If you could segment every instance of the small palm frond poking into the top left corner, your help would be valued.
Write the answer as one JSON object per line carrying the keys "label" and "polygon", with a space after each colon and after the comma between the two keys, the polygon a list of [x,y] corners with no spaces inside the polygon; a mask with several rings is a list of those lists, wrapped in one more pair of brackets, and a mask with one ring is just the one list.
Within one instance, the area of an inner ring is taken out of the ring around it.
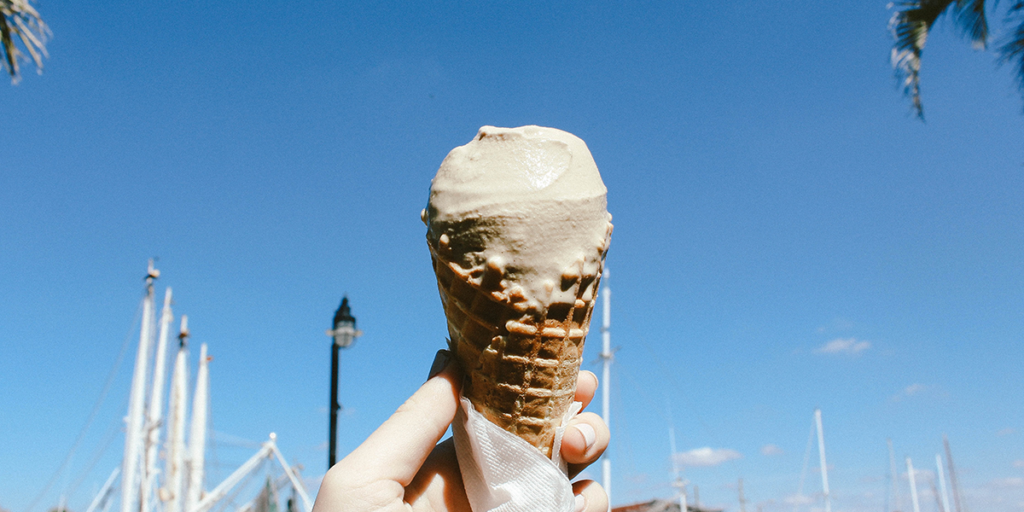
{"label": "small palm frond poking into the top left corner", "polygon": [[[18,61],[32,58],[39,73],[43,70],[46,40],[49,29],[39,16],[30,0],[0,0],[0,47],[3,48],[3,67],[10,74],[12,83],[20,79]],[[16,38],[16,39],[15,39]],[[28,56],[17,45],[22,42]]]}

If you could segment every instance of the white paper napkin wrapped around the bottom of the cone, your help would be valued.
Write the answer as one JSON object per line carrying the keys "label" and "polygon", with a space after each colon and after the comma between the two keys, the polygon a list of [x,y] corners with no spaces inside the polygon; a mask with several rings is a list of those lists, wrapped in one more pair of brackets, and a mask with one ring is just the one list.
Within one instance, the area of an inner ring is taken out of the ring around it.
{"label": "white paper napkin wrapped around the bottom of the cone", "polygon": [[574,512],[575,499],[559,453],[573,402],[555,431],[553,460],[478,413],[462,397],[452,430],[466,495],[473,512]]}

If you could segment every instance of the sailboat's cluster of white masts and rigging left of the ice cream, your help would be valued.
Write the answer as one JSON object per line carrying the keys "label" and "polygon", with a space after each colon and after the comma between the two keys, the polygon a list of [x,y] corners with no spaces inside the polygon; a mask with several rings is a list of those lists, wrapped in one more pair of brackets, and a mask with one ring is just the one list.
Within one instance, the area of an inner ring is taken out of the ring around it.
{"label": "sailboat's cluster of white masts and rigging left of the ice cream", "polygon": [[[289,512],[311,512],[312,501],[309,494],[299,478],[297,469],[290,466],[282,455],[276,434],[272,432],[260,449],[227,478],[211,490],[204,488],[211,357],[207,354],[207,345],[202,344],[189,412],[188,317],[182,315],[165,421],[165,370],[174,314],[171,308],[171,289],[167,288],[160,316],[159,336],[155,337],[154,282],[159,276],[160,271],[154,268],[153,260],[150,260],[145,275],[145,296],[142,299],[138,350],[132,374],[128,414],[125,417],[125,447],[121,466],[114,468],[86,512],[108,512],[115,501],[119,483],[120,512],[208,512],[267,460],[276,462],[281,467],[282,477],[279,478],[278,487],[290,485],[294,495],[299,498],[290,501],[290,505],[297,505],[301,509],[293,511],[290,506]],[[151,353],[154,349],[155,353]],[[189,413],[190,423],[186,421]],[[158,459],[164,430],[167,433],[164,443],[166,458],[161,469]],[[271,495],[276,499],[276,487],[272,494],[267,494]],[[276,509],[275,506],[271,508]]]}

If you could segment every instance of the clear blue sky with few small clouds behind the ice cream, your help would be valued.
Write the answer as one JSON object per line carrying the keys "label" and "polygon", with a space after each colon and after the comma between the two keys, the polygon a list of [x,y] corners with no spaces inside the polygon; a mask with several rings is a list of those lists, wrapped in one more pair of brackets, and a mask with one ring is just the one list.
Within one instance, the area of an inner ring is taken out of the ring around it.
{"label": "clear blue sky with few small clouds behind the ice cream", "polygon": [[614,504],[672,496],[674,423],[724,455],[685,468],[701,503],[742,477],[793,510],[820,407],[835,510],[885,511],[886,439],[934,472],[943,434],[972,510],[1024,509],[1024,101],[948,24],[921,123],[883,1],[37,5],[50,57],[0,100],[0,507],[81,512],[117,466],[154,256],[214,356],[208,485],[271,431],[315,480],[342,294],[345,453],[444,344],[437,166],[539,124],[587,141],[614,216]]}

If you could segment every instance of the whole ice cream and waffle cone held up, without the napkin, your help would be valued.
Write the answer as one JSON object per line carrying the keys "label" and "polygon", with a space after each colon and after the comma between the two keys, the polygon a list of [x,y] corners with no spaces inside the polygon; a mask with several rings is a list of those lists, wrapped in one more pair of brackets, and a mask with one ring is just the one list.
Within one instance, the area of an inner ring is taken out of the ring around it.
{"label": "whole ice cream and waffle cone held up, without the napkin", "polygon": [[485,126],[441,163],[423,211],[463,395],[548,457],[611,236],[606,194],[579,137]]}

